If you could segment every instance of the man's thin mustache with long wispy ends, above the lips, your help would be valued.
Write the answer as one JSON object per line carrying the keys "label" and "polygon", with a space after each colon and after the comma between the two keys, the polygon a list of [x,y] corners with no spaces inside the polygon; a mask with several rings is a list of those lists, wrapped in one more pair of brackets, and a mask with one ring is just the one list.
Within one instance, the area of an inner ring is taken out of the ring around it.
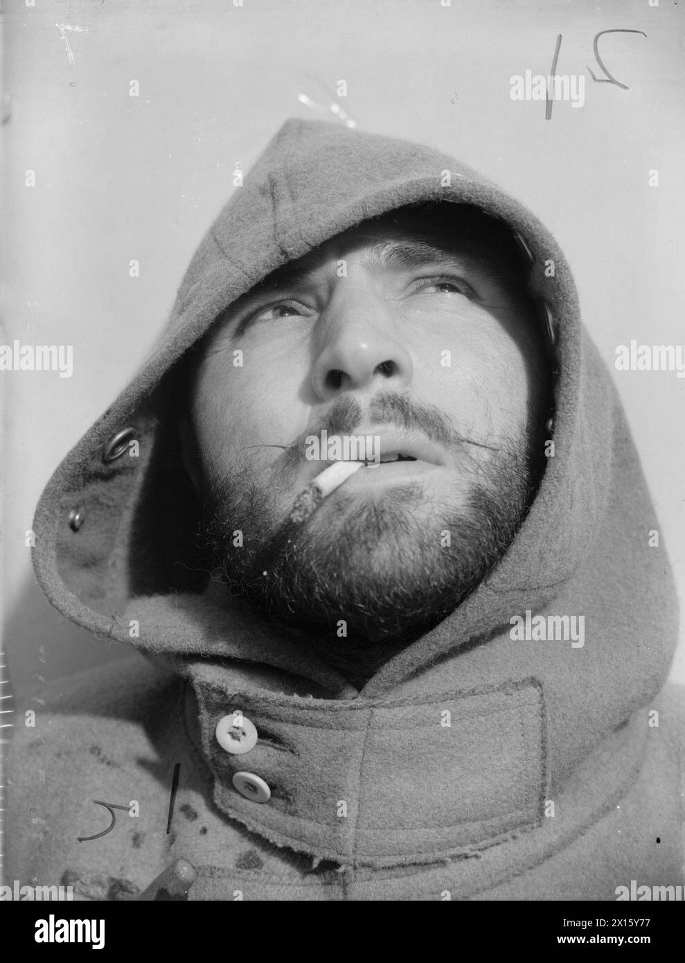
{"label": "man's thin mustache with long wispy ends, above the lips", "polygon": [[[451,419],[434,404],[415,402],[407,395],[394,391],[374,395],[367,406],[368,421],[379,428],[399,428],[421,431],[429,441],[444,448],[473,445],[491,452],[500,449],[482,441],[469,438],[454,429]],[[282,448],[283,455],[276,459],[274,468],[288,476],[302,458],[306,439],[320,434],[352,434],[364,421],[364,408],[356,398],[341,398],[323,414],[317,426],[301,431],[288,445],[249,445],[248,448]]]}

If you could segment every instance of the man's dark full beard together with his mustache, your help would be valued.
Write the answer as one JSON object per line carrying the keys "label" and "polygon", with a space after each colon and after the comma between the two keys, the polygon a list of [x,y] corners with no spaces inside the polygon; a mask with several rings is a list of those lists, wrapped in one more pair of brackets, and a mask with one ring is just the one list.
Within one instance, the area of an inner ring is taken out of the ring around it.
{"label": "man's dark full beard together with his mustache", "polygon": [[[358,686],[487,577],[520,527],[542,469],[533,456],[542,445],[528,426],[509,443],[480,445],[493,454],[476,460],[465,457],[466,439],[435,408],[387,394],[370,413],[385,417],[386,427],[420,429],[459,450],[466,497],[429,499],[421,482],[371,496],[342,485],[297,524],[279,517],[273,490],[259,486],[244,462],[229,476],[205,477],[200,492],[213,580],[259,617],[299,630]],[[347,400],[326,423],[350,429],[361,415]],[[301,453],[301,445],[288,446],[276,477],[285,481]]]}

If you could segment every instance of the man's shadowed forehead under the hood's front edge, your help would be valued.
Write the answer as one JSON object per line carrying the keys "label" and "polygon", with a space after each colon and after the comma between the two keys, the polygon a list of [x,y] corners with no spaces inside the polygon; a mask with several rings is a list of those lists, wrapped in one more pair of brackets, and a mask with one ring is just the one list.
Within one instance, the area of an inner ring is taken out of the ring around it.
{"label": "man's shadowed forehead under the hood's front edge", "polygon": [[453,267],[457,260],[509,283],[522,284],[525,278],[519,248],[506,225],[470,205],[441,203],[363,221],[268,274],[258,288],[311,280],[329,262],[354,253],[370,270]]}

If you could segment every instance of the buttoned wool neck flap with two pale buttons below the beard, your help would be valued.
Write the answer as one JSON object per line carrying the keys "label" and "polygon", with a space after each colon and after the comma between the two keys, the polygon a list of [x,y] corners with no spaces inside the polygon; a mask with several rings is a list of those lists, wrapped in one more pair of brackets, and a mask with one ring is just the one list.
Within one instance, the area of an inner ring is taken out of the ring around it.
{"label": "buttoned wool neck flap with two pale buttons below the beard", "polygon": [[[186,673],[190,739],[217,807],[276,846],[343,867],[394,867],[468,855],[542,820],[545,713],[534,679],[329,700],[259,689],[259,672],[246,686],[230,665],[193,661]],[[236,717],[257,732],[241,754],[216,737]],[[244,792],[245,774],[268,787],[266,802]]]}

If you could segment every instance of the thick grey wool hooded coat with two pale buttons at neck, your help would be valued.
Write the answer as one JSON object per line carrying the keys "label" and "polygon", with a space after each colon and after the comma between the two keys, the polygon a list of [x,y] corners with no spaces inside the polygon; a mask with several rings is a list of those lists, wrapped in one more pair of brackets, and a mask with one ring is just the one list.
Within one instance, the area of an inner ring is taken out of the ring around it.
{"label": "thick grey wool hooded coat with two pale buttons at neck", "polygon": [[[267,273],[426,201],[477,205],[519,241],[552,345],[554,450],[495,569],[356,690],[193,565],[178,372]],[[9,878],[135,898],[182,858],[191,900],[613,900],[633,880],[685,882],[683,698],[665,687],[676,602],[640,459],[563,253],[463,164],[289,120],[193,256],[140,373],[48,482],[34,529],[52,604],[138,654],[55,684],[36,726],[16,726]],[[583,616],[583,644],[512,638],[526,612]],[[240,755],[216,738],[236,712],[257,733]],[[237,772],[268,800],[241,794]]]}

